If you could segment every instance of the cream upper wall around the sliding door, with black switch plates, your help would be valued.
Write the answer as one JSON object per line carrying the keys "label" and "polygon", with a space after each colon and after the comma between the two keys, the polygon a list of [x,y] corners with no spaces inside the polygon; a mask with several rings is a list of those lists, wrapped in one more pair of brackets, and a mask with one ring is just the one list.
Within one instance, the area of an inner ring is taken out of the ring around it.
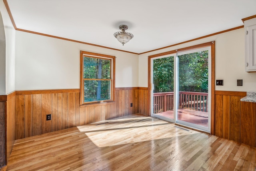
{"label": "cream upper wall around the sliding door, with black switch plates", "polygon": [[[215,89],[256,91],[256,73],[247,73],[244,69],[244,28],[139,55],[139,87],[148,87],[148,56],[214,40],[215,79],[224,80],[223,86],[215,86]],[[236,80],[241,79],[243,86],[236,86]]]}

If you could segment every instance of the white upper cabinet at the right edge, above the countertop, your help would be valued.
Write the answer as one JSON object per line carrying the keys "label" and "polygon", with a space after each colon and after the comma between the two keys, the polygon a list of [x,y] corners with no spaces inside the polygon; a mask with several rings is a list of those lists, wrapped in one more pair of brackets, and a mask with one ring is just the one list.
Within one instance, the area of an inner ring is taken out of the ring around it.
{"label": "white upper cabinet at the right edge, above the countertop", "polygon": [[245,71],[256,72],[256,18],[244,21]]}

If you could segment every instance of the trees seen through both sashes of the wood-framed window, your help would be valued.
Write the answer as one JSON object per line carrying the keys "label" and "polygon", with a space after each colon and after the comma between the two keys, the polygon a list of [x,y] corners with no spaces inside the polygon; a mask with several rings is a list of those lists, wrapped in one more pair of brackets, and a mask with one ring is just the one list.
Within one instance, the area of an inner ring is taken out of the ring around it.
{"label": "trees seen through both sashes of the wood-framed window", "polygon": [[111,61],[84,57],[84,102],[110,99]]}

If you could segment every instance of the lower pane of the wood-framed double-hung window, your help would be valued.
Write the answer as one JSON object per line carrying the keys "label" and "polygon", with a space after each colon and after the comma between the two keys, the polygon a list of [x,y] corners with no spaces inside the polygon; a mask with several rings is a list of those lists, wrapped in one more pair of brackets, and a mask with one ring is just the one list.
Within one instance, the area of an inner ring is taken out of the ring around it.
{"label": "lower pane of the wood-framed double-hung window", "polygon": [[110,80],[84,80],[84,102],[110,100]]}

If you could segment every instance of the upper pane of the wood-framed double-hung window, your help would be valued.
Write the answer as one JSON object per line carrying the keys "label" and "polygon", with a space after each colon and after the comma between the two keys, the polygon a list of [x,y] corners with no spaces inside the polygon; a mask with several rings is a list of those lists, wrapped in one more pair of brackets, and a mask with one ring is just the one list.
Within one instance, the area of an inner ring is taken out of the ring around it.
{"label": "upper pane of the wood-framed double-hung window", "polygon": [[110,79],[110,60],[84,57],[84,78]]}

